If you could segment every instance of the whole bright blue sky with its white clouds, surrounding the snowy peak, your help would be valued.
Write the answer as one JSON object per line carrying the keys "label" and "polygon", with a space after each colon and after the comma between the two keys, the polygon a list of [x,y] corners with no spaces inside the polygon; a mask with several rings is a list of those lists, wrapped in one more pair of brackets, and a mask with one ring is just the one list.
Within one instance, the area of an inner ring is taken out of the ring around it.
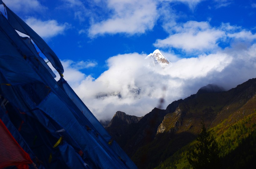
{"label": "whole bright blue sky with its white clouds, surrounding the snowy peak", "polygon": [[[53,49],[99,120],[118,110],[145,115],[161,97],[165,108],[209,83],[228,90],[256,77],[255,0],[3,2]],[[168,68],[144,60],[155,49]]]}

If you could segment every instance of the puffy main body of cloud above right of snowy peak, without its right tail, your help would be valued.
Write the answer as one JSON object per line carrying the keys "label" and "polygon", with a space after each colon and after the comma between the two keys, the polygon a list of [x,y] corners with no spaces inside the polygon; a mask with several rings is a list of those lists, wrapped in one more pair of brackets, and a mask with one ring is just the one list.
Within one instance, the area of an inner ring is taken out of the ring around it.
{"label": "puffy main body of cloud above right of snowy peak, without its right tail", "polygon": [[154,46],[159,48],[174,47],[186,52],[193,50],[207,51],[218,46],[217,41],[225,35],[209,25],[208,22],[188,21],[172,28],[174,34],[163,40],[156,40]]}

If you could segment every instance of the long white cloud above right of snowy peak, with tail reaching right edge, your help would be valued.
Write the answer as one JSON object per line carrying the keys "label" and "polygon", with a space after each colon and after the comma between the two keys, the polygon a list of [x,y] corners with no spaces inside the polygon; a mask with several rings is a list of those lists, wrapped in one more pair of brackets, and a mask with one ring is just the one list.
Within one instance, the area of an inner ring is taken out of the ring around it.
{"label": "long white cloud above right of snowy peak, with tail reaching right edge", "polygon": [[186,53],[213,52],[219,48],[220,42],[229,43],[230,40],[256,40],[256,34],[229,23],[212,27],[209,22],[188,21],[169,27],[166,31],[170,35],[165,39],[157,39],[154,46],[181,49]]}

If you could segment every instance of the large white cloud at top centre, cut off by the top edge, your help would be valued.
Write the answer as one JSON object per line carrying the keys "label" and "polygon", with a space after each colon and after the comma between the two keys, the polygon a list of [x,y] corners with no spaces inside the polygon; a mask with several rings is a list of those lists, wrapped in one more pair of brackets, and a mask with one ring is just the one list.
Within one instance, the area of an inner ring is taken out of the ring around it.
{"label": "large white cloud at top centre, cut off by the top edge", "polygon": [[156,2],[153,0],[107,1],[111,9],[110,18],[92,23],[89,29],[91,37],[103,34],[136,34],[151,30],[158,18]]}

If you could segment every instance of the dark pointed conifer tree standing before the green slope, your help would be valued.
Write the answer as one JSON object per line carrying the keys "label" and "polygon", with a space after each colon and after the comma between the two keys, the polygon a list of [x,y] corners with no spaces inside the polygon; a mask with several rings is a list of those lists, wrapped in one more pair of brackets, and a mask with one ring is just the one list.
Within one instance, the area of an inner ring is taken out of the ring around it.
{"label": "dark pointed conifer tree standing before the green slope", "polygon": [[206,131],[204,121],[201,122],[202,129],[198,134],[194,151],[188,157],[190,165],[194,169],[216,169],[219,168],[219,148],[214,137]]}

